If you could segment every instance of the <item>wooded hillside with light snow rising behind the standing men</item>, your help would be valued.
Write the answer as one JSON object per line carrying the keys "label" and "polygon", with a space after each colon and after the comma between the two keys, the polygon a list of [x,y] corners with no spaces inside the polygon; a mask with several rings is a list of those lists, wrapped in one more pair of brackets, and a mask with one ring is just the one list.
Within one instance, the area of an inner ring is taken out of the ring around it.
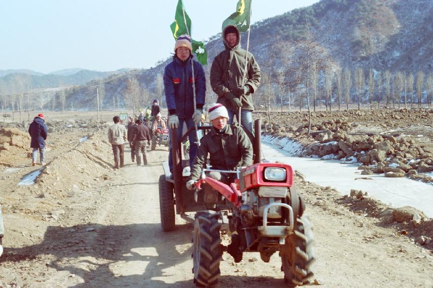
{"label": "wooded hillside with light snow rising behind the standing men", "polygon": [[[365,75],[374,71],[413,73],[422,70],[431,73],[433,63],[433,2],[430,0],[322,0],[310,7],[296,9],[251,26],[250,51],[255,55],[263,72],[290,70],[283,57],[284,47],[298,45],[306,39],[308,26],[317,35],[317,45],[328,53],[334,67],[354,70],[362,67]],[[223,49],[221,35],[211,37],[206,44],[209,65]],[[242,36],[246,46],[246,35]],[[274,53],[271,55],[271,51]],[[167,55],[169,56],[169,55]],[[274,61],[269,61],[270,57]],[[135,76],[143,88],[155,97],[155,80],[162,74],[167,61],[146,71],[105,80],[105,105],[115,100],[122,105],[121,94],[126,93],[126,79]],[[269,63],[273,63],[270,67]],[[353,78],[352,78],[353,79]],[[95,83],[74,89],[68,101],[80,103],[82,109],[95,107]],[[377,89],[376,89],[377,90]],[[207,99],[211,98],[208,89]],[[377,92],[380,93],[380,92]],[[257,102],[264,101],[259,90]],[[92,97],[90,97],[92,95]],[[214,97],[214,96],[213,96]],[[142,102],[146,102],[143,98]]]}

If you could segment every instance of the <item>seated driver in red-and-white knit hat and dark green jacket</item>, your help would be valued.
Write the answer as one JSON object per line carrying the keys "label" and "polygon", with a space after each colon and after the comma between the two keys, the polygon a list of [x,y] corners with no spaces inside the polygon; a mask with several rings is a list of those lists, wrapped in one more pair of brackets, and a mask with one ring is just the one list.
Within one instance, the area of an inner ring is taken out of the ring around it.
{"label": "seated driver in red-and-white knit hat and dark green jacket", "polygon": [[[210,107],[209,120],[213,127],[201,139],[187,182],[188,189],[192,189],[195,181],[200,178],[208,154],[210,154],[210,165],[215,170],[234,171],[236,168],[252,165],[252,144],[242,127],[227,125],[229,114],[226,107],[222,104],[214,104]],[[226,184],[234,181],[230,178],[230,174],[220,172],[210,172],[207,177]]]}

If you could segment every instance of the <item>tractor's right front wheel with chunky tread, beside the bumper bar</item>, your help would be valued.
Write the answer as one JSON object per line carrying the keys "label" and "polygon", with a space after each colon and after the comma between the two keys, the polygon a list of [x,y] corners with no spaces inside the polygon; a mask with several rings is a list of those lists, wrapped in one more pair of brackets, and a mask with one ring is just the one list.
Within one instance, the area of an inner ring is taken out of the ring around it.
{"label": "tractor's right front wheel with chunky tread, beside the bumper bar", "polygon": [[316,260],[312,225],[306,215],[298,217],[295,231],[288,236],[280,251],[281,270],[289,287],[309,283],[313,276],[312,264]]}

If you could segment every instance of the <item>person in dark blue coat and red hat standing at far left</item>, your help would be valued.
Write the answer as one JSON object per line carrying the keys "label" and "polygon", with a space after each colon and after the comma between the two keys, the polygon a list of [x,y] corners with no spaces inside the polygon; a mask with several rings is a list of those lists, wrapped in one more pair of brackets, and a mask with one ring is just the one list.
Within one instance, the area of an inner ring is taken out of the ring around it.
{"label": "person in dark blue coat and red hat standing at far left", "polygon": [[48,127],[45,124],[44,114],[38,114],[34,117],[33,122],[28,127],[28,133],[31,137],[30,148],[33,148],[31,165],[36,165],[38,150],[41,158],[41,165],[45,165],[45,140],[48,136]]}

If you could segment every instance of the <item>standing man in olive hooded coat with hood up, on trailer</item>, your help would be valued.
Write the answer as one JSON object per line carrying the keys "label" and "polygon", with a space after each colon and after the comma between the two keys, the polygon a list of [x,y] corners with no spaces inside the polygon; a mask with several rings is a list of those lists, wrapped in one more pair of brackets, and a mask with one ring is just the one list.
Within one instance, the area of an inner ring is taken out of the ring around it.
{"label": "standing man in olive hooded coat with hood up, on trailer", "polygon": [[260,68],[254,56],[240,48],[240,34],[236,26],[224,28],[223,43],[226,49],[215,56],[210,68],[210,86],[218,94],[218,103],[227,107],[230,123],[233,123],[234,116],[238,118],[240,107],[241,124],[252,134],[251,112],[254,106],[251,94],[259,87]]}

